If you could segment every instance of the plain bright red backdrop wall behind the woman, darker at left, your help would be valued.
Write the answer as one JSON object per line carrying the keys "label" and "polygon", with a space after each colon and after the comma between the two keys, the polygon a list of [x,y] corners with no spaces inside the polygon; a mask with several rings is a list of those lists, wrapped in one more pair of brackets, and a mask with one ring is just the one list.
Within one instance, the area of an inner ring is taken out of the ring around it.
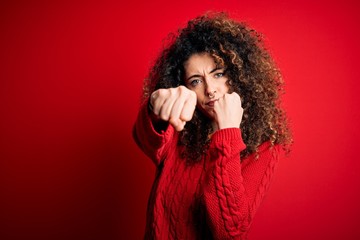
{"label": "plain bright red backdrop wall behind the woman, darker at left", "polygon": [[264,33],[286,80],[295,144],[250,239],[360,238],[356,1],[100,2],[0,5],[0,239],[143,236],[142,79],[167,33],[206,10]]}

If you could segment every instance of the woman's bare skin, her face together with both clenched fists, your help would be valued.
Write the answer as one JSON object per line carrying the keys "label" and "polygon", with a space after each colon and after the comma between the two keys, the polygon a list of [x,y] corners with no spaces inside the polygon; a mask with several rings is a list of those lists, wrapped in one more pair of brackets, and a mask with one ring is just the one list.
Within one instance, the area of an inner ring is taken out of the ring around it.
{"label": "woman's bare skin, her face together with both clenched fists", "polygon": [[224,68],[216,66],[208,53],[193,54],[184,68],[185,86],[158,89],[151,94],[154,115],[181,131],[197,107],[212,121],[214,131],[239,128],[243,115],[241,100],[237,93],[228,93]]}

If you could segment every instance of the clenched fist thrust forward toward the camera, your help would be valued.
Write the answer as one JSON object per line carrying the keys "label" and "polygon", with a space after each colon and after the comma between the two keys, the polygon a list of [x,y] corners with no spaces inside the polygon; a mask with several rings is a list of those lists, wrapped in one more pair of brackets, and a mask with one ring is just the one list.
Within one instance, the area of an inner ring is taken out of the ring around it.
{"label": "clenched fist thrust forward toward the camera", "polygon": [[151,94],[150,105],[159,119],[169,122],[176,131],[182,131],[193,116],[196,94],[185,86],[158,89]]}

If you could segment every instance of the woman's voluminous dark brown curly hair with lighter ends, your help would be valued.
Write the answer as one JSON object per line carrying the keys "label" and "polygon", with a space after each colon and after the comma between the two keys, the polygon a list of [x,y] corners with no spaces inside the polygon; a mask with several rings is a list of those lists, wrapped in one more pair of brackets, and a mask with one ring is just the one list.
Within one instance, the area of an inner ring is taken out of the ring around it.
{"label": "woman's voluminous dark brown curly hair with lighter ends", "polygon": [[[170,35],[144,81],[143,100],[159,88],[185,85],[184,63],[196,53],[209,53],[217,65],[224,67],[230,91],[241,97],[244,113],[239,127],[246,144],[241,158],[256,153],[265,141],[289,150],[291,132],[279,98],[284,91],[281,73],[264,47],[262,35],[226,13],[204,14]],[[210,119],[196,109],[180,132],[183,156],[199,160],[212,131]]]}

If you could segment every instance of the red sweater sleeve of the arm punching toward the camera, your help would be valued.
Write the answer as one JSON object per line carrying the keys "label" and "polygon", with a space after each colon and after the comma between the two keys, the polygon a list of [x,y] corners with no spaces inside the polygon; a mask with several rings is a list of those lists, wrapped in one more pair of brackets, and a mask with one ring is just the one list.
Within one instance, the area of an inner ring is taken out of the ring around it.
{"label": "red sweater sleeve of the arm punching toward the camera", "polygon": [[158,166],[166,156],[174,131],[174,128],[167,123],[162,129],[155,129],[150,117],[148,101],[145,101],[140,107],[132,135],[140,149]]}

